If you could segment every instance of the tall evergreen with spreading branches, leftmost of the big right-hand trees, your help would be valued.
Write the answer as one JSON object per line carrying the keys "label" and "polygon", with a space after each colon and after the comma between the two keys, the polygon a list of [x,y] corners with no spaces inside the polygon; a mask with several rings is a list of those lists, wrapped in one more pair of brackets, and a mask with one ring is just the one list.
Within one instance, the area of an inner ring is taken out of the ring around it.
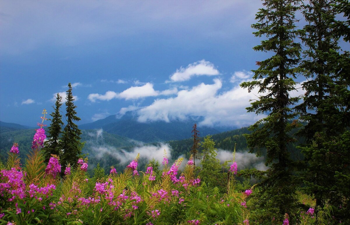
{"label": "tall evergreen with spreading branches, leftmost of the big right-hand trees", "polygon": [[[247,135],[248,147],[251,153],[261,155],[260,149],[267,149],[265,165],[266,172],[250,170],[243,175],[259,176],[263,193],[257,209],[261,211],[260,222],[263,224],[273,218],[283,220],[288,213],[293,224],[296,215],[295,184],[293,171],[295,162],[290,158],[288,145],[294,139],[288,134],[296,123],[289,123],[296,116],[292,107],[299,97],[291,97],[290,92],[296,88],[296,65],[300,60],[301,46],[295,42],[297,30],[295,12],[300,1],[265,0],[265,8],[259,9],[255,19],[258,23],[252,25],[257,29],[255,36],[265,36],[266,40],[255,46],[255,51],[271,52],[272,57],[258,61],[260,67],[253,70],[253,81],[243,82],[241,87],[251,91],[259,89],[259,100],[246,108],[248,112],[268,114],[250,127],[254,132]],[[254,172],[254,173],[252,173]]]}

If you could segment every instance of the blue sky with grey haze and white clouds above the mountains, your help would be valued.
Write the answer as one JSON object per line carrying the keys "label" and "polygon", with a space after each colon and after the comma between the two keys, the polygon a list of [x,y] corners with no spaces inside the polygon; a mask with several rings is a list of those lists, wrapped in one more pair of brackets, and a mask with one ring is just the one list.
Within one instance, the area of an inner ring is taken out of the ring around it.
{"label": "blue sky with grey haze and white clouds above the mountains", "polygon": [[[268,53],[251,24],[260,0],[0,1],[0,120],[35,126],[72,84],[77,124],[134,111],[140,122],[202,116],[241,127],[239,87]],[[294,93],[299,95],[300,93]],[[62,111],[65,111],[64,105]]]}

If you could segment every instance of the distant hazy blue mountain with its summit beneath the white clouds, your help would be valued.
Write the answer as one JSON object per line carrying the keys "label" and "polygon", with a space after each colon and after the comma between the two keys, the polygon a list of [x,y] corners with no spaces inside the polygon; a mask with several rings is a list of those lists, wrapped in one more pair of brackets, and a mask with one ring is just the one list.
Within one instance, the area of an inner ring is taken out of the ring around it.
{"label": "distant hazy blue mountain with its summit beneath the white clouds", "polygon": [[[188,119],[187,121],[172,121],[169,123],[164,121],[140,123],[137,120],[137,115],[127,112],[121,117],[112,115],[93,123],[79,125],[79,129],[102,128],[108,133],[150,143],[189,138],[192,135],[193,125],[200,120],[201,118],[198,117],[197,120]],[[202,136],[221,132],[215,128],[206,126],[198,126],[198,130],[200,130]]]}

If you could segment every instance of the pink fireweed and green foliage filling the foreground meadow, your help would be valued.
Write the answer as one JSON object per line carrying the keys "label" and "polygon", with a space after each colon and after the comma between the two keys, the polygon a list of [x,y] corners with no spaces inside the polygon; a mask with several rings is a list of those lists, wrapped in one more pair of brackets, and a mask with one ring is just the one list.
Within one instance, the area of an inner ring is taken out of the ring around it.
{"label": "pink fireweed and green foliage filling the foreground meadow", "polygon": [[[40,149],[45,138],[42,127],[46,111],[43,113],[32,143],[33,152],[38,154],[28,158],[28,165],[43,162]],[[15,159],[17,155],[18,145],[14,144],[10,156]],[[68,165],[63,178],[59,176],[61,165],[56,156],[35,171],[20,168],[13,161],[8,164],[12,167],[0,171],[0,223],[249,224],[249,208],[245,207],[249,205],[251,189],[241,192],[233,185],[225,194],[217,188],[208,190],[195,176],[193,159],[179,174],[182,160],[169,168],[165,156],[162,176],[156,178],[154,170],[158,168],[148,166],[145,173],[138,171],[137,155],[123,173],[111,167],[109,175],[97,181],[86,173],[87,158],[80,158],[75,168]],[[234,159],[225,171],[228,170],[237,173]],[[234,179],[230,176],[230,181]],[[306,215],[312,216],[313,210]]]}

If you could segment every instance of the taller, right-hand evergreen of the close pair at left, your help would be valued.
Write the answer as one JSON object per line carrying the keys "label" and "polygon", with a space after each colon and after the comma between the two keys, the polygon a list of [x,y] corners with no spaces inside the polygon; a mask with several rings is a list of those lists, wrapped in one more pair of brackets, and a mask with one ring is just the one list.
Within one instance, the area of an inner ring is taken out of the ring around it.
{"label": "taller, right-hand evergreen of the close pair at left", "polygon": [[74,97],[72,94],[72,86],[69,83],[68,84],[68,90],[67,90],[67,96],[66,96],[66,120],[67,124],[63,129],[62,133],[62,170],[65,170],[65,167],[70,164],[71,166],[75,166],[77,164],[77,161],[79,159],[79,155],[82,152],[83,143],[80,143],[80,135],[82,132],[78,128],[78,126],[73,121],[79,121],[80,118],[76,116],[77,112],[75,111],[75,108],[77,106],[74,105]]}

